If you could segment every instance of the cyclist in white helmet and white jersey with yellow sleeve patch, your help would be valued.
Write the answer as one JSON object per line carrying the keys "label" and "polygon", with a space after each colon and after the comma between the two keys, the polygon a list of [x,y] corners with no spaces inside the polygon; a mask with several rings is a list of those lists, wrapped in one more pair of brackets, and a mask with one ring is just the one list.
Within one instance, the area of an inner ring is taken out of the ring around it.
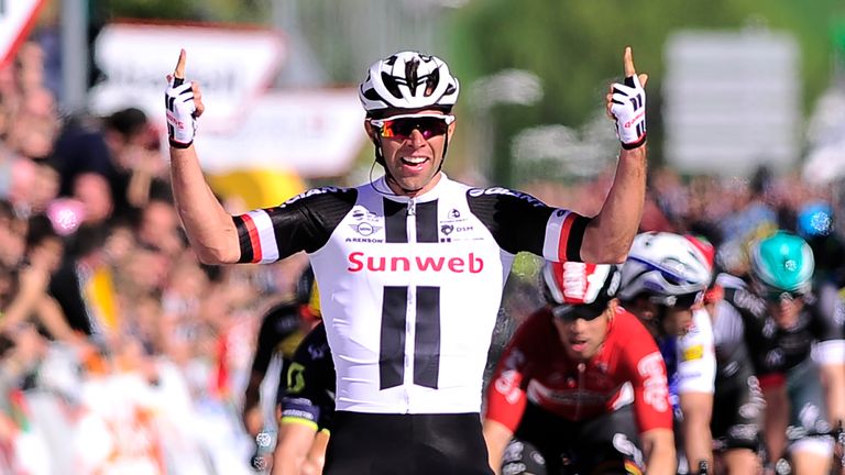
{"label": "cyclist in white helmet and white jersey with yellow sleeve patch", "polygon": [[699,473],[701,463],[713,466],[716,361],[713,327],[703,309],[712,272],[698,239],[668,232],[637,235],[622,266],[619,300],[649,329],[666,360],[680,427],[679,473]]}

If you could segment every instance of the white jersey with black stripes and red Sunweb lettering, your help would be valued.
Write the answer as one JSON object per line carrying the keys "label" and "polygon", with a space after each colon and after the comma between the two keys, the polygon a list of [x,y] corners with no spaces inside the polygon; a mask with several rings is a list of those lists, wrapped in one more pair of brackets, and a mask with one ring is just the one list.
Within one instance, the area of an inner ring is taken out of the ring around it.
{"label": "white jersey with black stripes and red Sunweb lettering", "polygon": [[241,262],[306,251],[337,369],[337,409],[479,412],[502,289],[517,252],[580,261],[588,218],[441,176],[416,198],[383,178],[234,217]]}

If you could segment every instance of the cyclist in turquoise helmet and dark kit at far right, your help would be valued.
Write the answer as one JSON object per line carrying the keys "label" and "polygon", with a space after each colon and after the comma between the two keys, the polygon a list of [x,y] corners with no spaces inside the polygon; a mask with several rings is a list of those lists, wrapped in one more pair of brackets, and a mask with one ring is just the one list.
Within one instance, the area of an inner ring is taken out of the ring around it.
{"label": "cyclist in turquoise helmet and dark kit at far right", "polygon": [[769,462],[789,449],[794,473],[826,474],[833,440],[813,434],[845,419],[843,302],[833,285],[813,288],[813,252],[794,234],[753,242],[749,257],[760,299],[748,299],[740,314],[766,398]]}

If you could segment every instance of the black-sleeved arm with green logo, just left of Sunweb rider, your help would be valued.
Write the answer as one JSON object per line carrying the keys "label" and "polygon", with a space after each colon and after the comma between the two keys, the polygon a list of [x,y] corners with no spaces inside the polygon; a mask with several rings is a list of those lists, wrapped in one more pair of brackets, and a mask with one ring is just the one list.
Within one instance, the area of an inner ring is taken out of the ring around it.
{"label": "black-sleeved arm with green logo, just left of Sunweb rider", "polygon": [[296,349],[283,380],[273,475],[319,474],[334,413],[334,365],[322,323]]}

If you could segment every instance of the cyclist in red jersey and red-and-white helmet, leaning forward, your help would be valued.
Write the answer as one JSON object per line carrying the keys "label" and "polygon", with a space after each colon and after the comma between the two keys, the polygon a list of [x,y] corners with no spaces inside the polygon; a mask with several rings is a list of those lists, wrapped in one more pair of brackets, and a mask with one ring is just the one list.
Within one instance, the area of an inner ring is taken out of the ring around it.
{"label": "cyclist in red jersey and red-and-white helmet, leaning forward", "polygon": [[615,298],[618,268],[555,263],[542,277],[548,305],[519,327],[489,386],[491,466],[558,475],[567,459],[566,473],[673,474],[666,366]]}

